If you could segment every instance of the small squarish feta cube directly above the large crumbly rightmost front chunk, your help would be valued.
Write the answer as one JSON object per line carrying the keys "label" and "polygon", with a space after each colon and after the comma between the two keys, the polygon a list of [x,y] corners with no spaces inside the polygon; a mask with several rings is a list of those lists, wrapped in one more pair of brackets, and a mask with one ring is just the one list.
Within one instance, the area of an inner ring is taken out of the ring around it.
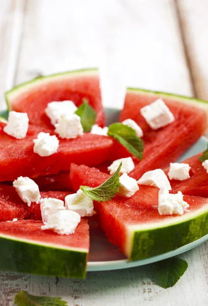
{"label": "small squarish feta cube directly above the large crumbly rightmost front chunk", "polygon": [[189,164],[183,163],[170,163],[170,169],[168,176],[170,180],[185,181],[190,179],[189,170],[191,167]]}

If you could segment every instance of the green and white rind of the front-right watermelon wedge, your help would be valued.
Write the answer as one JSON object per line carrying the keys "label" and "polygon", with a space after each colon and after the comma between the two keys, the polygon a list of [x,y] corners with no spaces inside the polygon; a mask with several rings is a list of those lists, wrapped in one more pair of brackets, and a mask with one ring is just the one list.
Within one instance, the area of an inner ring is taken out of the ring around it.
{"label": "green and white rind of the front-right watermelon wedge", "polygon": [[125,253],[129,260],[158,256],[208,234],[208,203],[195,212],[174,218],[176,220],[172,224],[167,220],[156,226],[155,223],[152,226],[146,225],[143,229],[141,225],[128,225]]}

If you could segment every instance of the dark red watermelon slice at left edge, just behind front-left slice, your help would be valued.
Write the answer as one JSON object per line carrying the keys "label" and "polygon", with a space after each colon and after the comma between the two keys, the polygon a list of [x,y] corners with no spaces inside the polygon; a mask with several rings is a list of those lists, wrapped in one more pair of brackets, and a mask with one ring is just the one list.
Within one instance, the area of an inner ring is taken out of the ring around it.
{"label": "dark red watermelon slice at left edge, just behind front-left slice", "polygon": [[[65,196],[70,192],[64,191],[48,191],[41,192],[41,197],[55,197],[60,200],[65,199]],[[12,186],[0,184],[0,221],[31,218],[42,220],[40,212],[40,204],[32,203],[28,207]]]}

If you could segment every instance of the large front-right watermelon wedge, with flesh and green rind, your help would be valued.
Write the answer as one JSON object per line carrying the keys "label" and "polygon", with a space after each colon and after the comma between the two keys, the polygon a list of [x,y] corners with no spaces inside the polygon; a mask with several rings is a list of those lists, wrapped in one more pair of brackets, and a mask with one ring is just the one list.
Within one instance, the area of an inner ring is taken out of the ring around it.
{"label": "large front-right watermelon wedge, with flesh and green rind", "polygon": [[[72,165],[70,171],[74,189],[80,185],[98,186],[107,175],[83,165]],[[108,239],[130,260],[157,256],[208,233],[208,198],[185,195],[184,200],[190,207],[184,215],[161,216],[158,192],[158,188],[140,186],[131,198],[116,196],[106,202],[94,202],[99,223]]]}

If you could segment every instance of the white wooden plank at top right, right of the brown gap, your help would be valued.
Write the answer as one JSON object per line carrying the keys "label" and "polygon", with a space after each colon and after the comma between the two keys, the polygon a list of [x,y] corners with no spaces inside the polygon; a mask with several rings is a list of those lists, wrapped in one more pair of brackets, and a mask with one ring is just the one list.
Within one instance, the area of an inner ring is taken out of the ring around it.
{"label": "white wooden plank at top right, right of the brown gap", "polygon": [[177,0],[196,96],[208,100],[208,28],[206,0]]}

